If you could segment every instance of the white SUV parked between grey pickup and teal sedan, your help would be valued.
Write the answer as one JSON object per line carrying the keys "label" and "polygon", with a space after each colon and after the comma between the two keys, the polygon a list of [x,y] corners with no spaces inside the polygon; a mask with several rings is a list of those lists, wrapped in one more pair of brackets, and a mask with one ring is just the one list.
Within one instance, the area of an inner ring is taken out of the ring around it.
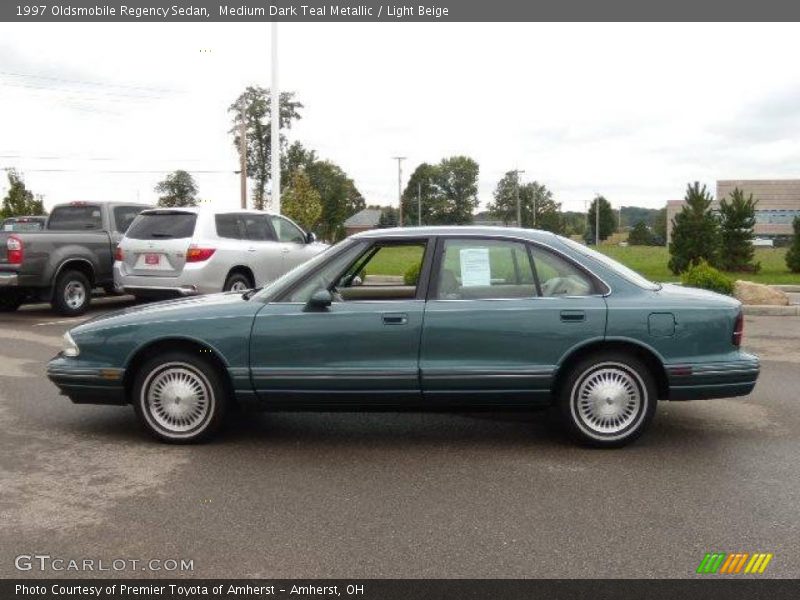
{"label": "white SUV parked between grey pickup and teal sedan", "polygon": [[280,215],[155,208],[136,217],[119,243],[114,284],[142,298],[244,291],[325,248]]}

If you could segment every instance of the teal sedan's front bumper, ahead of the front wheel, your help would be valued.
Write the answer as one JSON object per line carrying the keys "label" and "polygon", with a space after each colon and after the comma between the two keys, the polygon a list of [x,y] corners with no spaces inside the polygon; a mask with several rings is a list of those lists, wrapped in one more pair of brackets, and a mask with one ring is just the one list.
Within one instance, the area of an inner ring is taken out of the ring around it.
{"label": "teal sedan's front bumper, ahead of the front wheel", "polygon": [[58,355],[48,363],[47,377],[75,404],[127,403],[125,369],[81,366]]}

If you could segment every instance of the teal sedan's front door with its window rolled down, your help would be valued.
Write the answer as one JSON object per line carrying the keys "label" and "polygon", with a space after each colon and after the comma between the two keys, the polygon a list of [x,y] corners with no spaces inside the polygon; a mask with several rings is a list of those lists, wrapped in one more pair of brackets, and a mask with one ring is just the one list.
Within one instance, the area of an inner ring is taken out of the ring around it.
{"label": "teal sedan's front door with its window rolled down", "polygon": [[[279,406],[419,400],[418,355],[427,240],[355,242],[255,319],[251,377],[259,398]],[[310,310],[327,289],[330,307]]]}

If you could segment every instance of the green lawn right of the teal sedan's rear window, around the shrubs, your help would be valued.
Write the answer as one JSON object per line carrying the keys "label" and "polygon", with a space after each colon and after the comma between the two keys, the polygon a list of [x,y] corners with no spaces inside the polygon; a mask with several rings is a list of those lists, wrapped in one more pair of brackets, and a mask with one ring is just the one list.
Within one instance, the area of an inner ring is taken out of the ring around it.
{"label": "green lawn right of the teal sedan's rear window, around the shrubs", "polygon": [[[728,273],[731,279],[745,279],[757,283],[800,284],[800,273],[791,273],[786,267],[786,248],[756,248],[756,262],[761,263],[758,273]],[[680,278],[667,268],[669,252],[665,246],[604,246],[600,252],[638,271],[652,281],[678,281]]]}

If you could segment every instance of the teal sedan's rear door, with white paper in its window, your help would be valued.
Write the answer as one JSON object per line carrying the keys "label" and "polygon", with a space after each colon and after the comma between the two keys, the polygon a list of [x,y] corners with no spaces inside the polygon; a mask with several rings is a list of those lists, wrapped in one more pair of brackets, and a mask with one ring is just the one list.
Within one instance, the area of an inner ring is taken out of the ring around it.
{"label": "teal sedan's rear door, with white paper in its window", "polygon": [[549,402],[561,358],[604,335],[596,282],[523,241],[439,245],[420,350],[425,403]]}

